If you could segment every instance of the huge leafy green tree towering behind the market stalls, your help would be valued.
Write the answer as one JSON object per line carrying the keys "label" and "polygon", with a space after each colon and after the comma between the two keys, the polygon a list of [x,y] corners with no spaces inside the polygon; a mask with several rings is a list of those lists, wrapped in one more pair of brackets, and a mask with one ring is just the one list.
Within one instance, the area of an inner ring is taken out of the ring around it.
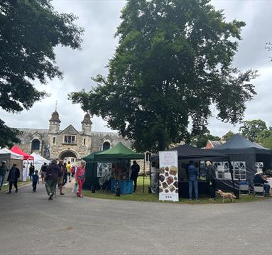
{"label": "huge leafy green tree towering behind the market stalls", "polygon": [[256,72],[232,67],[245,23],[227,22],[209,2],[127,1],[109,75],[98,75],[90,92],[70,94],[72,101],[134,139],[138,151],[185,139],[190,119],[197,134],[211,104],[222,121],[241,121],[256,94],[250,82]]}

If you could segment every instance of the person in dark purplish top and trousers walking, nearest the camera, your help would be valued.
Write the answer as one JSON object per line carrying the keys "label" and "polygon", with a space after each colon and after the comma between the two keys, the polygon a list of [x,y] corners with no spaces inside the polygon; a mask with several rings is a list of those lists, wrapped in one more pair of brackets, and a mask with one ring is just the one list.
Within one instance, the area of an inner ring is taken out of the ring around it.
{"label": "person in dark purplish top and trousers walking, nearest the camera", "polygon": [[60,168],[57,161],[54,159],[50,166],[46,168],[45,171],[45,189],[48,193],[48,199],[53,200],[53,195],[55,194],[55,189],[58,182],[58,173]]}

